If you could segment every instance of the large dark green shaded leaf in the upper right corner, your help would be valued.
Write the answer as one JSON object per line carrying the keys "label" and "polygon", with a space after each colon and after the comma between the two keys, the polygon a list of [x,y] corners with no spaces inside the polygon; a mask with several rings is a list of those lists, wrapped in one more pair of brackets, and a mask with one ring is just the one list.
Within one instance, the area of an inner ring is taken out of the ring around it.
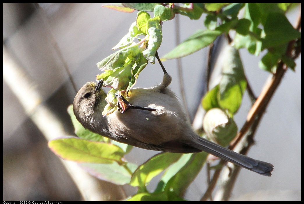
{"label": "large dark green shaded leaf in the upper right corner", "polygon": [[270,13],[266,19],[265,38],[262,49],[283,45],[293,39],[301,37],[301,33],[293,28],[282,13]]}

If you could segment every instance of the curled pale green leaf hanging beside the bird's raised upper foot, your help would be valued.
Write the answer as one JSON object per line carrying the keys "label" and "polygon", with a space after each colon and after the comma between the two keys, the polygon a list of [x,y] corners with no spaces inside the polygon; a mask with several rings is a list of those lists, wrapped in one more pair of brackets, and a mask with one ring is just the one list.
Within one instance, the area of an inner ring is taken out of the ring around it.
{"label": "curled pale green leaf hanging beside the bird's raised upper foot", "polygon": [[149,19],[147,22],[148,47],[143,50],[143,56],[152,64],[155,63],[155,53],[161,46],[163,35],[159,17]]}

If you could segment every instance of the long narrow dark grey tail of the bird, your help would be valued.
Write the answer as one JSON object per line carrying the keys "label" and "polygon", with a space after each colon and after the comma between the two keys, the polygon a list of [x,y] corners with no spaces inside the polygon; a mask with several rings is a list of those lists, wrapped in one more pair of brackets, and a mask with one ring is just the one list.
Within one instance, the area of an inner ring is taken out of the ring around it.
{"label": "long narrow dark grey tail of the bird", "polygon": [[199,144],[197,144],[196,148],[264,176],[271,176],[271,172],[274,168],[270,163],[241,155],[202,137],[199,137]]}

